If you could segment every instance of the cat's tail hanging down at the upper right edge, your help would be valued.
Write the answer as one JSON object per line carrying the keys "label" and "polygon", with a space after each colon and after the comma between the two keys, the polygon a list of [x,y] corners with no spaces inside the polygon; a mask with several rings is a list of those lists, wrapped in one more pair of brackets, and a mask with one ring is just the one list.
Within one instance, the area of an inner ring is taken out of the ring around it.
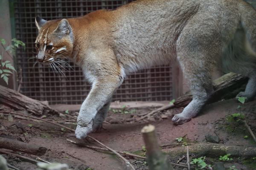
{"label": "cat's tail hanging down at the upper right edge", "polygon": [[253,51],[256,52],[256,10],[243,0],[240,1],[238,7],[246,37]]}

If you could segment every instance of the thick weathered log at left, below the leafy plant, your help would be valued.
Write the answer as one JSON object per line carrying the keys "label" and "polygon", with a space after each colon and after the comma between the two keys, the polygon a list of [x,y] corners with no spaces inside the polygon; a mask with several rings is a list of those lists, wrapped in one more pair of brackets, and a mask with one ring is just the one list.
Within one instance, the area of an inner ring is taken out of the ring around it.
{"label": "thick weathered log at left, below the leafy plant", "polygon": [[0,104],[7,105],[17,111],[29,111],[34,115],[58,114],[47,102],[31,99],[12,89],[0,85]]}

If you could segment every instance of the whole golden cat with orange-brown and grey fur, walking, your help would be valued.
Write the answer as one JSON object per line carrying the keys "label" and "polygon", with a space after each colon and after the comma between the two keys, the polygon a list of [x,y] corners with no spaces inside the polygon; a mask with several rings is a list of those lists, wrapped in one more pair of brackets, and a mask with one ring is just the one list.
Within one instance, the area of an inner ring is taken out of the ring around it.
{"label": "whole golden cat with orange-brown and grey fur, walking", "polygon": [[36,17],[35,23],[38,62],[67,57],[92,83],[77,119],[79,139],[102,127],[126,74],[175,58],[193,94],[175,124],[195,117],[212,96],[217,64],[250,78],[238,96],[256,96],[256,11],[242,0],[137,0],[79,18]]}

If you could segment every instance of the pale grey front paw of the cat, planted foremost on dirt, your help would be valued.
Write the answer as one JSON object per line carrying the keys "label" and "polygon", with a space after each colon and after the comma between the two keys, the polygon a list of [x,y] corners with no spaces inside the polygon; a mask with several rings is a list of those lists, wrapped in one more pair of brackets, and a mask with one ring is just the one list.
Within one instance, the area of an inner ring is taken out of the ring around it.
{"label": "pale grey front paw of the cat, planted foremost on dirt", "polygon": [[84,139],[91,132],[93,132],[93,119],[89,123],[78,119],[75,132],[76,138]]}

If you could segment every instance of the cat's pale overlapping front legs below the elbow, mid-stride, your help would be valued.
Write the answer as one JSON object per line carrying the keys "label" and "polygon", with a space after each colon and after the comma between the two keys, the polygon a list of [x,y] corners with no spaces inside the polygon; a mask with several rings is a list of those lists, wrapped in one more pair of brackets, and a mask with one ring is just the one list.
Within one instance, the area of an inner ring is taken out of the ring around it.
{"label": "cat's pale overlapping front legs below the elbow, mid-stride", "polygon": [[102,126],[113,93],[122,83],[122,76],[104,76],[93,82],[92,89],[81,105],[77,118],[76,137],[85,138]]}

